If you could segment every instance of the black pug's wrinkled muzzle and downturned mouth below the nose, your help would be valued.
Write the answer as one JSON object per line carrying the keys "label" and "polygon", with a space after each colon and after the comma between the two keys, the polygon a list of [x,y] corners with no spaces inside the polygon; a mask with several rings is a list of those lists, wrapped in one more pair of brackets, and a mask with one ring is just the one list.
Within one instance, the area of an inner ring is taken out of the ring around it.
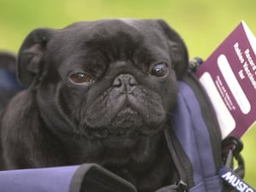
{"label": "black pug's wrinkled muzzle and downturned mouth below the nose", "polygon": [[98,97],[86,109],[79,131],[91,138],[148,137],[160,131],[166,122],[160,96],[149,90],[137,92]]}

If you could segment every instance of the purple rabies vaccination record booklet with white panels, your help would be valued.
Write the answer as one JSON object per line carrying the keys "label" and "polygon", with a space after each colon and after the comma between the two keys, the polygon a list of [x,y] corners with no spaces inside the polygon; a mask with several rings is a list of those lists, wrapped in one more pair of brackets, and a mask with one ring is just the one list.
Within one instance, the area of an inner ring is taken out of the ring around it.
{"label": "purple rabies vaccination record booklet with white panels", "polygon": [[241,137],[256,125],[256,38],[241,23],[203,62],[196,76],[207,90],[222,137]]}

